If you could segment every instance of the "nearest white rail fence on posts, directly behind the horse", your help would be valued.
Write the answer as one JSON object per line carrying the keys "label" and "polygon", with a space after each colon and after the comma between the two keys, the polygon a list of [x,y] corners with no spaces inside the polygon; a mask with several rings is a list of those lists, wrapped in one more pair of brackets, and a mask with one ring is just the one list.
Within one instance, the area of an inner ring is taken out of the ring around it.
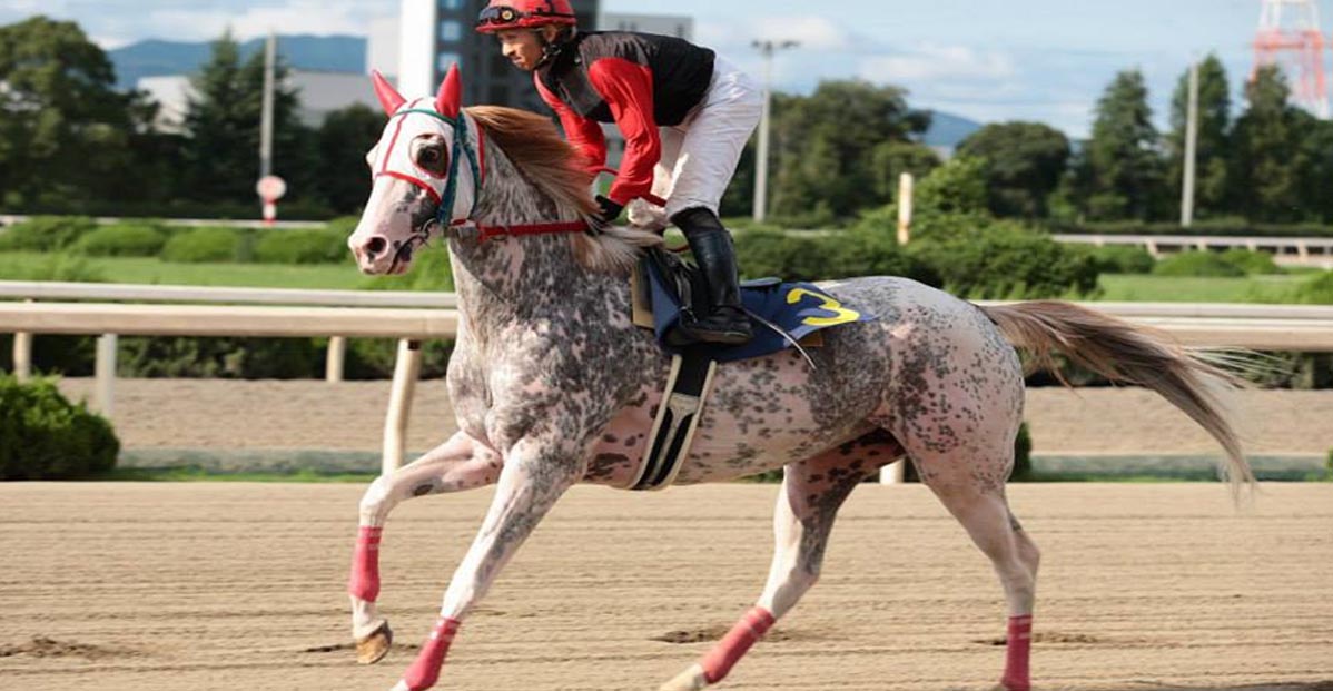
{"label": "nearest white rail fence on posts, directly behind the horse", "polygon": [[[1333,307],[1189,303],[1092,303],[1089,307],[1161,328],[1189,346],[1333,351]],[[93,406],[107,415],[113,410],[119,335],[329,336],[325,371],[331,382],[341,379],[345,339],[399,339],[385,414],[385,472],[403,463],[421,367],[420,343],[452,339],[457,325],[457,297],[452,293],[0,281],[0,332],[16,335],[17,376],[31,375],[33,335],[97,335]]]}

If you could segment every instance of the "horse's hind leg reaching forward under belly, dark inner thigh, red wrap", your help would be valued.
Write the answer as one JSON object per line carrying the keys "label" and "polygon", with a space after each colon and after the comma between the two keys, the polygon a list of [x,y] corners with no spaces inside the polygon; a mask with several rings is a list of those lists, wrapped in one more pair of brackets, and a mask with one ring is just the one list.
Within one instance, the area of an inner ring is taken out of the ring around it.
{"label": "horse's hind leg reaching forward under belly, dark inner thigh, red wrap", "polygon": [[869,472],[901,454],[882,431],[786,467],[773,515],[773,564],[758,602],[697,664],[661,691],[697,691],[721,682],[745,651],[789,612],[818,579],[838,507]]}

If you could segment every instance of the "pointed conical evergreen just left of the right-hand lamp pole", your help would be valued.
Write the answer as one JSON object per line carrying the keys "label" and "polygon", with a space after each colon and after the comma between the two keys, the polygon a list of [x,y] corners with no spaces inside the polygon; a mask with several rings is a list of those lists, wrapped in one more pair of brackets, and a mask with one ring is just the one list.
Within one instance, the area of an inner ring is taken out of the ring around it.
{"label": "pointed conical evergreen just left of the right-hand lamp pole", "polygon": [[1149,220],[1162,201],[1162,160],[1148,107],[1148,87],[1137,69],[1121,72],[1097,101],[1092,139],[1076,179],[1089,217]]}

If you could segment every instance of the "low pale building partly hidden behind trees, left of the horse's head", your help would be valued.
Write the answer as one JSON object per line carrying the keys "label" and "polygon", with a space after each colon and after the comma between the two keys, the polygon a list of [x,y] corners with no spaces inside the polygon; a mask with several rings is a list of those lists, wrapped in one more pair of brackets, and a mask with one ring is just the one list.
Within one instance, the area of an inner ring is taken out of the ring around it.
{"label": "low pale building partly hidden behind trees, left of the horse's head", "polygon": [[[356,72],[291,69],[284,87],[296,89],[300,100],[296,116],[307,127],[320,127],[328,113],[352,104],[360,103],[376,111],[380,108],[371,80]],[[183,131],[189,99],[195,96],[188,75],[143,77],[136,88],[147,91],[149,97],[157,101],[157,119],[153,120],[157,131],[169,133]]]}

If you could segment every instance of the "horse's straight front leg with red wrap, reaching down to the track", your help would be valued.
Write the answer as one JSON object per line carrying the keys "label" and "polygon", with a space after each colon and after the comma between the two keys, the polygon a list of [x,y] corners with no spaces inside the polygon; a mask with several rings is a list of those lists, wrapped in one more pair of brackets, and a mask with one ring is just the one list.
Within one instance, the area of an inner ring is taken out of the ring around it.
{"label": "horse's straight front leg with red wrap, reaching down to the track", "polygon": [[505,454],[504,470],[487,519],[449,582],[431,636],[393,691],[435,686],[453,635],[468,611],[532,534],[556,500],[583,476],[584,450],[556,435],[525,438]]}

